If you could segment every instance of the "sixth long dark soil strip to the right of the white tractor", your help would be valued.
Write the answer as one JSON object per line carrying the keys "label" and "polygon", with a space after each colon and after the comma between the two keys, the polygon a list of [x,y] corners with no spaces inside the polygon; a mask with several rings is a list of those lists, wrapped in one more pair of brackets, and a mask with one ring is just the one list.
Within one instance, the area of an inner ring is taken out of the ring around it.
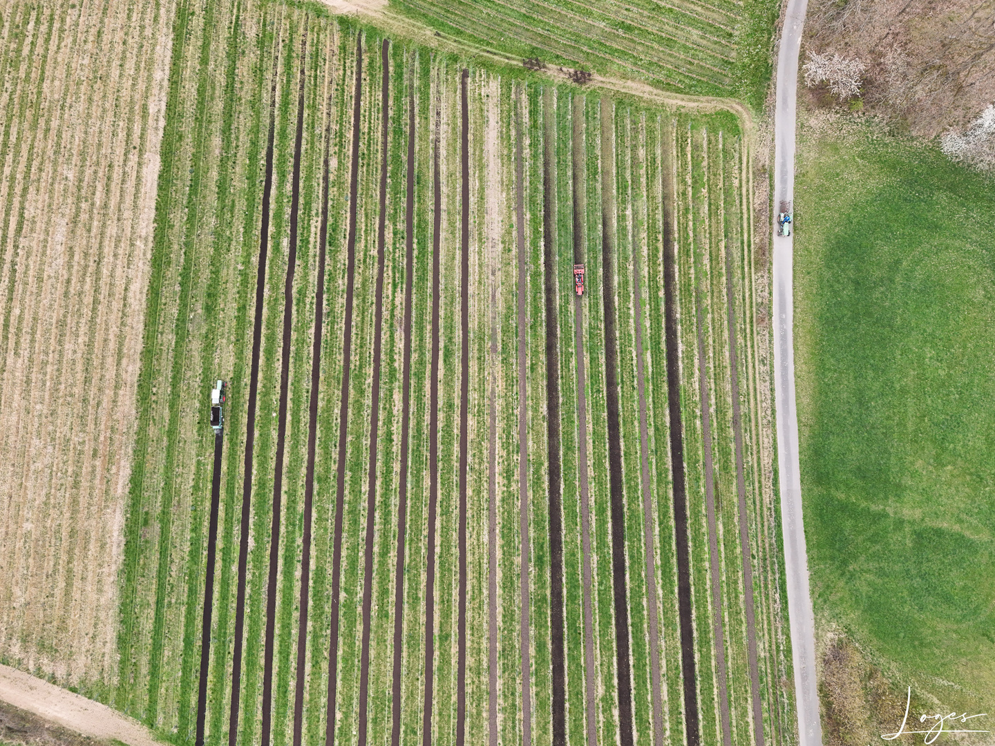
{"label": "sixth long dark soil strip to the right of the white tractor", "polygon": [[[401,467],[397,497],[397,565],[394,572],[394,681],[391,746],[401,742],[401,667],[404,635],[404,541],[408,519],[408,428],[411,413],[411,291],[415,265],[415,85],[408,97],[408,164],[404,203],[404,368],[401,400]],[[295,744],[298,746],[298,744]]]}

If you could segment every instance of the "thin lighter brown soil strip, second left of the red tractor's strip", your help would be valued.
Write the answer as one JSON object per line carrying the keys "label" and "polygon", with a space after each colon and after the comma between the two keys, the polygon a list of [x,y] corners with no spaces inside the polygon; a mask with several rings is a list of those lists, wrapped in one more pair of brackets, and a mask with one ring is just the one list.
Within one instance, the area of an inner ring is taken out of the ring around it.
{"label": "thin lighter brown soil strip, second left of the red tractor's strip", "polygon": [[[521,109],[524,106],[521,91],[515,93],[516,110],[514,117],[514,225],[515,240],[518,245],[518,533],[521,544],[521,565],[519,586],[521,588],[521,744],[532,746],[532,689],[530,664],[530,633],[528,630],[528,569],[530,565],[528,548],[528,419],[527,419],[527,376],[526,359],[528,342],[526,338],[528,321],[525,317],[525,295],[528,292],[527,265],[525,254],[525,183],[522,164]],[[396,744],[394,745],[396,746]]]}

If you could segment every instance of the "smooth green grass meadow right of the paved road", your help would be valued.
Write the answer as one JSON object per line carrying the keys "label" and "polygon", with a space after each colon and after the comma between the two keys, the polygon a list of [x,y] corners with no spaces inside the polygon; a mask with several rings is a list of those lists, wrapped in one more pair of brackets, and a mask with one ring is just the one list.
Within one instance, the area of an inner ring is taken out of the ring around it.
{"label": "smooth green grass meadow right of the paved road", "polygon": [[984,711],[995,702],[995,180],[932,145],[847,129],[802,135],[796,184],[816,618],[896,687]]}

